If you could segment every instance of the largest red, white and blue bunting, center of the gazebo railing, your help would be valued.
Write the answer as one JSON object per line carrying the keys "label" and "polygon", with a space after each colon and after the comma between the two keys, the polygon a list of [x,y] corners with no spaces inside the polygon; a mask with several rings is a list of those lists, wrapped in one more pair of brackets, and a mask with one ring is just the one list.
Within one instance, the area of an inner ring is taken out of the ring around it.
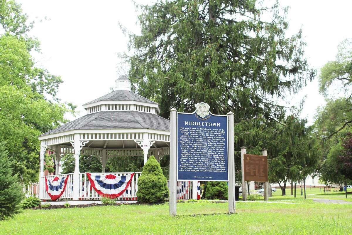
{"label": "largest red, white and blue bunting, center of the gazebo railing", "polygon": [[100,196],[107,196],[109,198],[117,198],[126,192],[130,186],[134,173],[128,175],[101,175],[96,173],[87,173],[90,185]]}

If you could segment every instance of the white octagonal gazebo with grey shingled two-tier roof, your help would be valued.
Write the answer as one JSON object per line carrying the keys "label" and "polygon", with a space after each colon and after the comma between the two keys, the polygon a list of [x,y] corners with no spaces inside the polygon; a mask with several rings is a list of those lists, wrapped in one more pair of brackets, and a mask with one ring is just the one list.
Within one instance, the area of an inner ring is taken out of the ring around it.
{"label": "white octagonal gazebo with grey shingled two-tier roof", "polygon": [[[40,140],[40,177],[39,198],[50,201],[45,190],[44,154],[46,150],[56,153],[56,162],[64,154],[74,154],[75,171],[59,175],[56,164],[55,176],[69,175],[67,187],[59,200],[87,201],[100,200],[100,196],[91,189],[86,173],[81,173],[79,155],[96,156],[102,165],[102,173],[108,158],[115,156],[154,155],[159,161],[169,154],[170,121],[158,116],[159,105],[131,92],[131,82],[126,76],[115,80],[113,92],[83,105],[87,114],[72,122],[39,136]],[[129,172],[114,172],[125,175]],[[118,200],[136,200],[138,190],[136,172],[126,193]],[[191,190],[186,199],[191,198]],[[128,193],[127,193],[128,192]]]}

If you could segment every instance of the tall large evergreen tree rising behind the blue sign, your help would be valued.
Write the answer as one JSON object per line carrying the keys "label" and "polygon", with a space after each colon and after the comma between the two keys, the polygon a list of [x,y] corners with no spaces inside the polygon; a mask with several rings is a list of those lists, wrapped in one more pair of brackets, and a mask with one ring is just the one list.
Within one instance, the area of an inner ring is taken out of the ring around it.
{"label": "tall large evergreen tree rising behind the blue sign", "polygon": [[271,98],[313,78],[301,32],[285,36],[286,9],[278,4],[175,0],[138,7],[142,32],[129,33],[128,75],[165,118],[170,107],[193,111],[204,101],[215,114],[234,111],[235,122],[259,114],[281,119],[284,109]]}

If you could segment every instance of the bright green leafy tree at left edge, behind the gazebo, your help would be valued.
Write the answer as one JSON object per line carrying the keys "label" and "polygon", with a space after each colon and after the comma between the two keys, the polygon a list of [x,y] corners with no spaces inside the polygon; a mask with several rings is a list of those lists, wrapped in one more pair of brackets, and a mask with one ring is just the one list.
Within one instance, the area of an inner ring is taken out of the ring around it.
{"label": "bright green leafy tree at left edge, behind the gazebo", "polygon": [[39,41],[27,35],[27,19],[20,4],[0,1],[0,141],[23,183],[38,181],[38,135],[66,123],[75,108],[56,97],[61,78],[35,66],[30,51],[39,51]]}

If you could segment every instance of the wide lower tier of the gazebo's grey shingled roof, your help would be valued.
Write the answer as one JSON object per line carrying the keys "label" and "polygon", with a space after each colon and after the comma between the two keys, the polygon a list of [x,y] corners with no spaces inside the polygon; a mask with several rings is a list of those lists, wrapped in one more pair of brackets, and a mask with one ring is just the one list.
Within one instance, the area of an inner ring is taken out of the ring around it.
{"label": "wide lower tier of the gazebo's grey shingled roof", "polygon": [[152,129],[170,131],[170,121],[154,113],[139,111],[100,111],[89,113],[40,136],[71,130]]}

